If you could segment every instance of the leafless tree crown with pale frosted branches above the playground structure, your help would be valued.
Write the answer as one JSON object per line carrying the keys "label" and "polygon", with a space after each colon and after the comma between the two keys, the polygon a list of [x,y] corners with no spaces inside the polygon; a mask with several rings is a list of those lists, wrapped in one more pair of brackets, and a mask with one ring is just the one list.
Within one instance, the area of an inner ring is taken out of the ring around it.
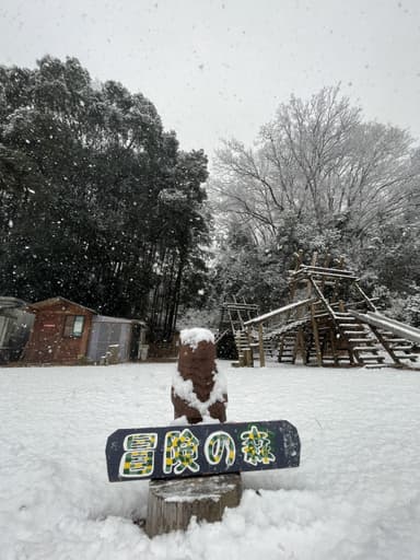
{"label": "leafless tree crown with pale frosted branches above the playground structure", "polygon": [[254,149],[225,141],[212,188],[261,242],[291,214],[317,233],[334,226],[362,238],[406,211],[420,178],[412,143],[407,131],[363,122],[339,86],[325,88],[282,104]]}

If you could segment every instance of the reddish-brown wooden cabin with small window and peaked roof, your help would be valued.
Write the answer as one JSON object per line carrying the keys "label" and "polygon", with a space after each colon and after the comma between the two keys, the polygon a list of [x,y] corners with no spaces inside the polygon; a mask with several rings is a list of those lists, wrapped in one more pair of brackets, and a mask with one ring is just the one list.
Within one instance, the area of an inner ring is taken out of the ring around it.
{"label": "reddish-brown wooden cabin with small window and peaked roof", "polygon": [[30,363],[73,364],[86,355],[92,318],[96,314],[65,298],[27,306],[35,323],[24,352]]}

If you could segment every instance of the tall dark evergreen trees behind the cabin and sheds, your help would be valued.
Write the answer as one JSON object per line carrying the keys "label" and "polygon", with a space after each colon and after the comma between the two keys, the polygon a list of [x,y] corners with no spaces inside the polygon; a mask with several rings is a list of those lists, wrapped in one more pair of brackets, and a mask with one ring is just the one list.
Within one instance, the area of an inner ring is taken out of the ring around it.
{"label": "tall dark evergreen trees behind the cabin and sheds", "polygon": [[168,337],[206,269],[203,152],[74,58],[0,68],[0,293],[147,317]]}

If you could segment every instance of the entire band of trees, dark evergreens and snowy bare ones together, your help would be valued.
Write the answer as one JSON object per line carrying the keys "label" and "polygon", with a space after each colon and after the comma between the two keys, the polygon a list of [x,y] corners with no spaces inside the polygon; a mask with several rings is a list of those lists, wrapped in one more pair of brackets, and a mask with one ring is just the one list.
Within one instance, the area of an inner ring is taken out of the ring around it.
{"label": "entire band of trees, dark evergreens and snowy bare ones together", "polygon": [[142,94],[95,83],[74,58],[0,68],[0,294],[143,317],[165,339],[180,307],[281,306],[302,249],[343,256],[420,325],[420,150],[407,131],[325,88],[282,104],[253,148],[225,141],[205,185],[207,164]]}

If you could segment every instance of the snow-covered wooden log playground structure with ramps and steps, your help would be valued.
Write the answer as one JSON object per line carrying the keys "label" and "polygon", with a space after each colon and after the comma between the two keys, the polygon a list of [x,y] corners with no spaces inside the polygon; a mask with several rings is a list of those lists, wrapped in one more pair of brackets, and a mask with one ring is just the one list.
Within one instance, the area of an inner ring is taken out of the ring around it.
{"label": "snow-covered wooden log playground structure with ramps and steps", "polygon": [[318,366],[402,368],[420,361],[420,329],[381,314],[342,259],[331,266],[318,266],[316,255],[311,265],[302,260],[299,254],[283,307],[257,315],[257,306],[245,301],[223,304],[217,342],[234,338],[234,365],[254,365],[255,353],[260,366],[268,355]]}

